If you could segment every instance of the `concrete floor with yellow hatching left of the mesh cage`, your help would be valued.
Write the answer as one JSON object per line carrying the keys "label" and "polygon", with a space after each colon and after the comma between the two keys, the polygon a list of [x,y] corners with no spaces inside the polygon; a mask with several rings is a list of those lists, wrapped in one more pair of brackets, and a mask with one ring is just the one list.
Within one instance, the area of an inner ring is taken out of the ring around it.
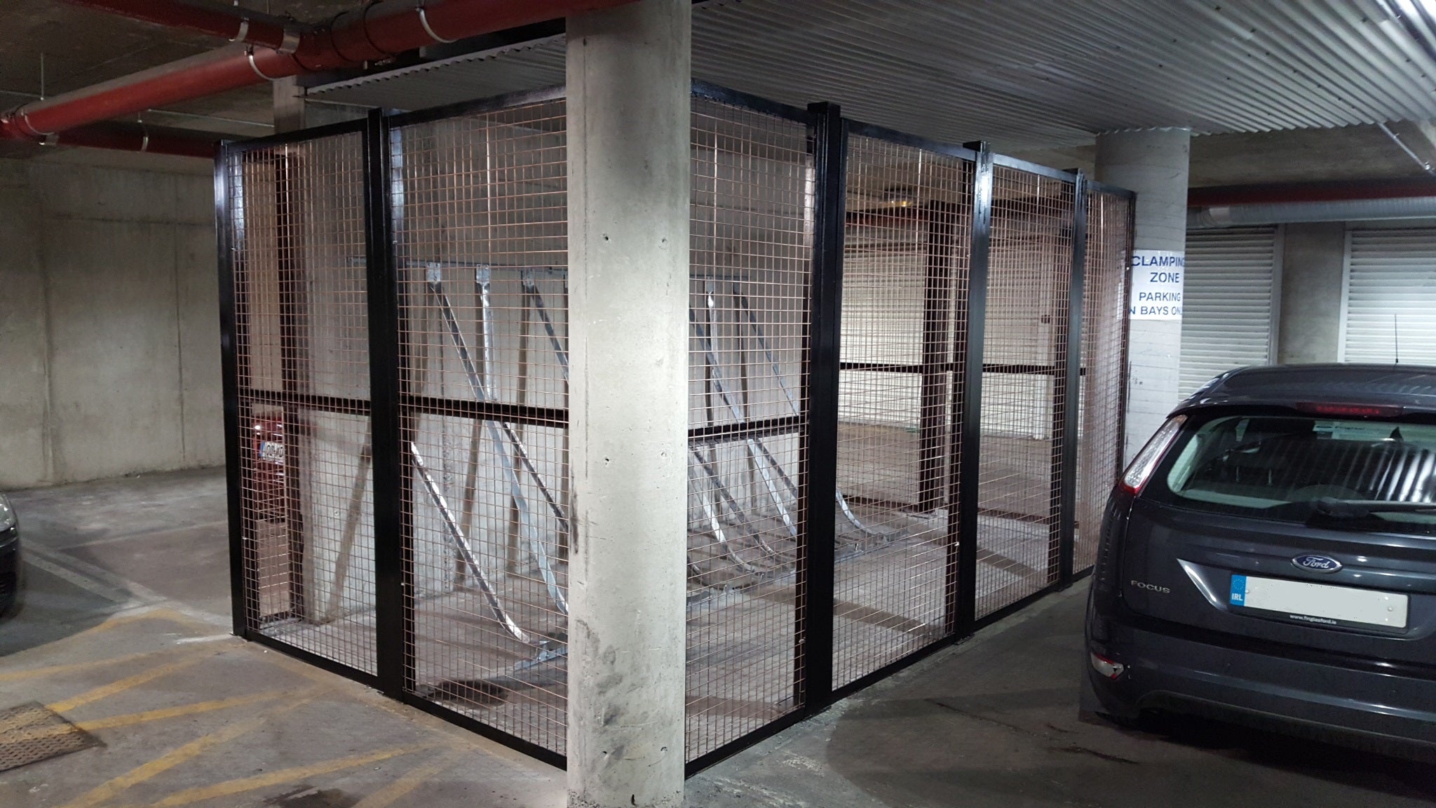
{"label": "concrete floor with yellow hatching left of the mesh cage", "polygon": [[563,772],[231,637],[221,472],[11,499],[29,587],[0,709],[101,746],[0,772],[0,805],[563,805]]}

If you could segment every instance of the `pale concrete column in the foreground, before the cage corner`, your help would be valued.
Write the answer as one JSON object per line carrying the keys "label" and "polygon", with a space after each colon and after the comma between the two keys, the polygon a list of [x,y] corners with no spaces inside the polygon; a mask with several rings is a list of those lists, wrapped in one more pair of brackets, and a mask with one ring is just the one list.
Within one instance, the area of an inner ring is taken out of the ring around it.
{"label": "pale concrete column in the foreground, before the cage corner", "polygon": [[567,22],[569,805],[684,799],[691,3]]}

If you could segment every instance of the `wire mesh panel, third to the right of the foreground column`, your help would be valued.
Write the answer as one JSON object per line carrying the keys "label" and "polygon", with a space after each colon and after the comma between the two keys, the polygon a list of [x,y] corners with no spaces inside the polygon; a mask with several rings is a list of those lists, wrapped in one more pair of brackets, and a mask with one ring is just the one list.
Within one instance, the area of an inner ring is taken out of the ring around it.
{"label": "wire mesh panel, third to the right of the foreground column", "polygon": [[976,614],[1057,581],[1073,185],[997,165],[992,173]]}

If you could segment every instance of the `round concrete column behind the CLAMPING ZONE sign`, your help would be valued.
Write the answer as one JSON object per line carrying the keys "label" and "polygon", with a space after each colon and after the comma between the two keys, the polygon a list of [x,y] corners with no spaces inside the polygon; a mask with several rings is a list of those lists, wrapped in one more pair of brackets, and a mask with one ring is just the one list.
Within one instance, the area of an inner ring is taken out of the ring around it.
{"label": "round concrete column behind the CLAMPING ZONE sign", "polygon": [[[1096,175],[1137,193],[1137,250],[1186,250],[1190,129],[1097,135]],[[1126,457],[1132,459],[1178,403],[1180,321],[1132,321]]]}

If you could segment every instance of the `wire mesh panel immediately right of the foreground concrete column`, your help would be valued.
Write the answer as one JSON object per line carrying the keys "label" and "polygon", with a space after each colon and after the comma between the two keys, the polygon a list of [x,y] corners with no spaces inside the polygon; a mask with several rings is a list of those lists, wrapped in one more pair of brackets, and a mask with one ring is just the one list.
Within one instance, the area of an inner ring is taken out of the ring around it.
{"label": "wire mesh panel immediately right of the foreground concrete column", "polygon": [[798,707],[813,170],[807,128],[694,98],[688,742]]}

